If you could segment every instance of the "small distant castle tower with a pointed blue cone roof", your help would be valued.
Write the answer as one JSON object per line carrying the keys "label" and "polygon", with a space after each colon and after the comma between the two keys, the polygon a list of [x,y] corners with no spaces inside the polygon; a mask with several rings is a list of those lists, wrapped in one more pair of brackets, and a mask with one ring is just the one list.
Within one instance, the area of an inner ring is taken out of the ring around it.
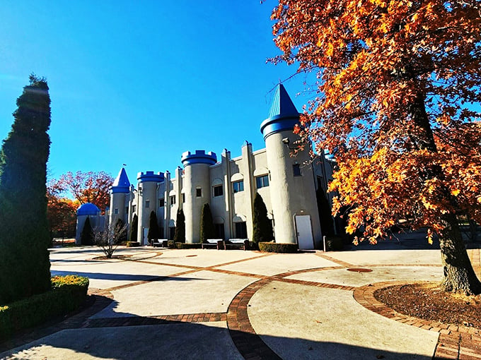
{"label": "small distant castle tower with a pointed blue cone roof", "polygon": [[129,217],[126,208],[129,206],[130,181],[122,167],[114,184],[110,187],[109,224],[115,224],[118,219],[127,224]]}

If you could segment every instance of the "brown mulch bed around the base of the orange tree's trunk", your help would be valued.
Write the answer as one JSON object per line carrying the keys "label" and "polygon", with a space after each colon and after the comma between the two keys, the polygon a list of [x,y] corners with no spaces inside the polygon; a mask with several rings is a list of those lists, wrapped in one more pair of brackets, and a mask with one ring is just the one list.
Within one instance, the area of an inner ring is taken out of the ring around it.
{"label": "brown mulch bed around the base of the orange tree's trunk", "polygon": [[446,293],[439,284],[427,282],[385,287],[374,297],[408,316],[481,330],[481,295]]}

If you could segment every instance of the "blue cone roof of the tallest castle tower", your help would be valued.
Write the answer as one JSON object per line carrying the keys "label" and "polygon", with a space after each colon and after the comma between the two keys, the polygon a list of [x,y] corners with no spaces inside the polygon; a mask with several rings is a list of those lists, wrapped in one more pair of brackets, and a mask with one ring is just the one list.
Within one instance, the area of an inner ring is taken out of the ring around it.
{"label": "blue cone roof of the tallest castle tower", "polygon": [[284,85],[277,85],[269,117],[260,124],[260,132],[264,135],[264,140],[273,133],[293,130],[294,126],[299,123],[299,115]]}

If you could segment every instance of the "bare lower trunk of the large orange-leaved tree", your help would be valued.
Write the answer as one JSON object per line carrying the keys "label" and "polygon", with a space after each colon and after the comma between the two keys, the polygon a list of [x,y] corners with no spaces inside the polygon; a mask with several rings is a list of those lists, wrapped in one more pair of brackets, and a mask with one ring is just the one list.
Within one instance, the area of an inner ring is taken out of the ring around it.
{"label": "bare lower trunk of the large orange-leaved tree", "polygon": [[444,278],[441,288],[446,292],[481,294],[481,282],[477,279],[463,243],[458,221],[454,215],[446,217],[448,226],[439,237]]}

